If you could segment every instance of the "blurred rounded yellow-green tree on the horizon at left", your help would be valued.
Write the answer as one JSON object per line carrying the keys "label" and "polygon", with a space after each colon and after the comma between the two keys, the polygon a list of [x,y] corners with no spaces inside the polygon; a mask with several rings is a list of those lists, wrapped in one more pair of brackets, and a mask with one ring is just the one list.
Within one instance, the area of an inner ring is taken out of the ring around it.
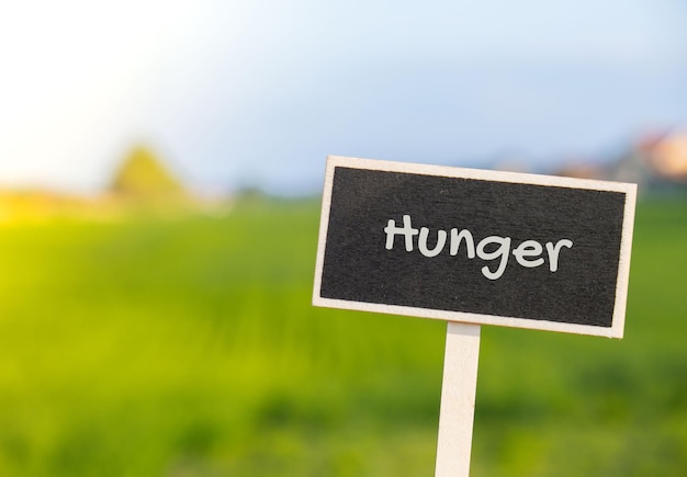
{"label": "blurred rounded yellow-green tree on the horizon at left", "polygon": [[143,201],[187,200],[185,188],[148,147],[132,149],[115,172],[111,191],[127,198]]}

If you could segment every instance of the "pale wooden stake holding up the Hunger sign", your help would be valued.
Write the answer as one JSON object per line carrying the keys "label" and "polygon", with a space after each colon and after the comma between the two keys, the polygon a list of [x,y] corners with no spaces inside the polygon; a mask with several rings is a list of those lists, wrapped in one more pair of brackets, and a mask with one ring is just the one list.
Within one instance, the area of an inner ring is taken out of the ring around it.
{"label": "pale wooden stake holding up the Hunger sign", "polygon": [[449,321],[435,477],[470,475],[478,359],[480,325]]}

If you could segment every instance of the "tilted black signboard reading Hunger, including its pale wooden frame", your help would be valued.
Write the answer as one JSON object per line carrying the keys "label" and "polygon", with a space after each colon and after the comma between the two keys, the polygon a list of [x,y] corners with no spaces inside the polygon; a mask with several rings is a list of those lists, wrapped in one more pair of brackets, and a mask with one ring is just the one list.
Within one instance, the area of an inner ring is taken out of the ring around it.
{"label": "tilted black signboard reading Hunger, including its pale wooden frame", "polygon": [[313,303],[620,338],[635,194],[329,157]]}

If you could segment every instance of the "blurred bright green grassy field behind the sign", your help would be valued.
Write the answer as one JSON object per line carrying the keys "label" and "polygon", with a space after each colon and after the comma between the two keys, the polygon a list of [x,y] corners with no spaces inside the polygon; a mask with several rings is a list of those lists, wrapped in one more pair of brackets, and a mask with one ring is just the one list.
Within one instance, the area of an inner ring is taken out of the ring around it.
{"label": "blurred bright green grassy field behind the sign", "polygon": [[[446,325],[311,306],[316,202],[0,227],[1,476],[429,476]],[[473,476],[687,475],[687,204],[626,338],[483,327]]]}

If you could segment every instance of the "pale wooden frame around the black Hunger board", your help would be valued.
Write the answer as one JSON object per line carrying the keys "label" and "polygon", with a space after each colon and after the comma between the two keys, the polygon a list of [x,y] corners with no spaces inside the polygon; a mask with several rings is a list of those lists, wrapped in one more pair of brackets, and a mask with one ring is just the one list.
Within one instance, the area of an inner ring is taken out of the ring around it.
{"label": "pale wooden frame around the black Hunger board", "polygon": [[[336,167],[624,193],[626,206],[624,217],[622,222],[622,237],[620,242],[620,260],[618,263],[618,280],[616,283],[616,303],[613,306],[611,327],[605,328],[589,325],[575,325],[558,321],[533,320],[507,316],[480,315],[462,311],[446,311],[428,308],[415,308],[409,306],[349,302],[344,299],[331,299],[322,297],[322,272],[324,264],[327,228],[329,225],[329,209],[331,206],[334,169]],[[630,252],[632,249],[632,230],[634,225],[635,202],[637,184],[623,182],[608,182],[587,179],[562,178],[554,175],[525,174],[517,172],[487,171],[478,169],[463,169],[443,166],[426,166],[407,162],[392,162],[373,159],[327,156],[325,186],[322,201],[322,216],[319,224],[319,239],[317,245],[317,261],[315,265],[313,305],[359,311],[375,311],[392,315],[435,318],[447,321],[460,321],[475,325],[497,325],[514,328],[529,328],[548,331],[592,334],[608,338],[622,338],[624,330],[628,283],[630,277]]]}

